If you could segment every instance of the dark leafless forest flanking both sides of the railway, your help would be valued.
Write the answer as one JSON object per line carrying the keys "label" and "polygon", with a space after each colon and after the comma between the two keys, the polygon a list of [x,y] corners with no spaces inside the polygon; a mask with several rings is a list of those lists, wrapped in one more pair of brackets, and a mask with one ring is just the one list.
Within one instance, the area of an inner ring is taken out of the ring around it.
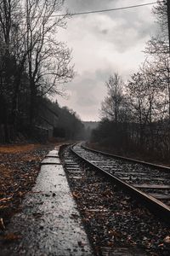
{"label": "dark leafless forest flanking both sides of the railway", "polygon": [[[71,49],[59,41],[70,17],[54,15],[64,1],[1,0],[0,143],[20,138],[88,138],[77,113],[60,108],[54,96],[75,76]],[[159,31],[144,49],[145,61],[124,82],[112,73],[91,142],[116,152],[145,152],[163,160],[170,153],[170,60],[167,5],[153,8]]]}

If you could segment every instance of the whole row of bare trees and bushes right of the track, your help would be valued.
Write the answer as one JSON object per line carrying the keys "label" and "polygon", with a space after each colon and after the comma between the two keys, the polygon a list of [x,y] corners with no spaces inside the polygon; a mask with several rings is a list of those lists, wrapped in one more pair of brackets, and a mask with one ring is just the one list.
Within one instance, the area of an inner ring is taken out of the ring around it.
{"label": "whole row of bare trees and bushes right of the track", "polygon": [[160,32],[145,47],[146,59],[124,83],[114,73],[106,82],[99,127],[92,141],[119,151],[140,150],[167,159],[170,155],[170,59],[167,5],[153,9]]}

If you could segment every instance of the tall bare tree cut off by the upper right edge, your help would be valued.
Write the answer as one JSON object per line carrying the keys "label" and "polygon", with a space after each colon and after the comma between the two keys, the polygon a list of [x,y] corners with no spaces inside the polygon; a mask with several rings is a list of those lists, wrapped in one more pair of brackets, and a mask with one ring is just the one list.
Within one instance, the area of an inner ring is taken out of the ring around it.
{"label": "tall bare tree cut off by the upper right edge", "polygon": [[153,13],[156,15],[156,20],[160,26],[159,33],[156,37],[151,38],[146,44],[145,53],[152,62],[153,72],[159,80],[159,87],[164,97],[161,97],[162,105],[165,112],[167,111],[170,119],[170,57],[168,44],[168,29],[167,29],[167,4],[162,1],[157,1],[153,8]]}

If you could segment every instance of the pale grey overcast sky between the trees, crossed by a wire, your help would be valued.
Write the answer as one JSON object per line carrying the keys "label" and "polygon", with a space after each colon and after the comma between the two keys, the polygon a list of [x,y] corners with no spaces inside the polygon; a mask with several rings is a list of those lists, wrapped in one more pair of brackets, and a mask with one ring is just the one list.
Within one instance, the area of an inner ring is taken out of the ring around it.
{"label": "pale grey overcast sky between the trees, crossed by a wire", "polygon": [[[151,0],[65,0],[71,13],[151,3]],[[60,106],[72,108],[82,120],[99,120],[106,96],[105,81],[112,73],[124,80],[144,61],[144,44],[156,32],[152,6],[102,14],[73,16],[59,40],[72,49],[76,77],[65,85],[69,95],[57,97]]]}

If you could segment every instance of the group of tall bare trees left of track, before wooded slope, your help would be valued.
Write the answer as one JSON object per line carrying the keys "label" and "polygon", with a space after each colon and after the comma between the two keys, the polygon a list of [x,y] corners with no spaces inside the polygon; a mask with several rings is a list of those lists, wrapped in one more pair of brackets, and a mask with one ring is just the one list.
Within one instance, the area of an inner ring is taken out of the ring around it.
{"label": "group of tall bare trees left of track, before wooded slope", "polygon": [[[57,38],[65,28],[63,0],[0,0],[0,135],[14,139],[37,125],[40,98],[61,93],[74,75],[71,50]],[[38,107],[38,108],[37,108]],[[23,127],[21,127],[23,125]]]}

